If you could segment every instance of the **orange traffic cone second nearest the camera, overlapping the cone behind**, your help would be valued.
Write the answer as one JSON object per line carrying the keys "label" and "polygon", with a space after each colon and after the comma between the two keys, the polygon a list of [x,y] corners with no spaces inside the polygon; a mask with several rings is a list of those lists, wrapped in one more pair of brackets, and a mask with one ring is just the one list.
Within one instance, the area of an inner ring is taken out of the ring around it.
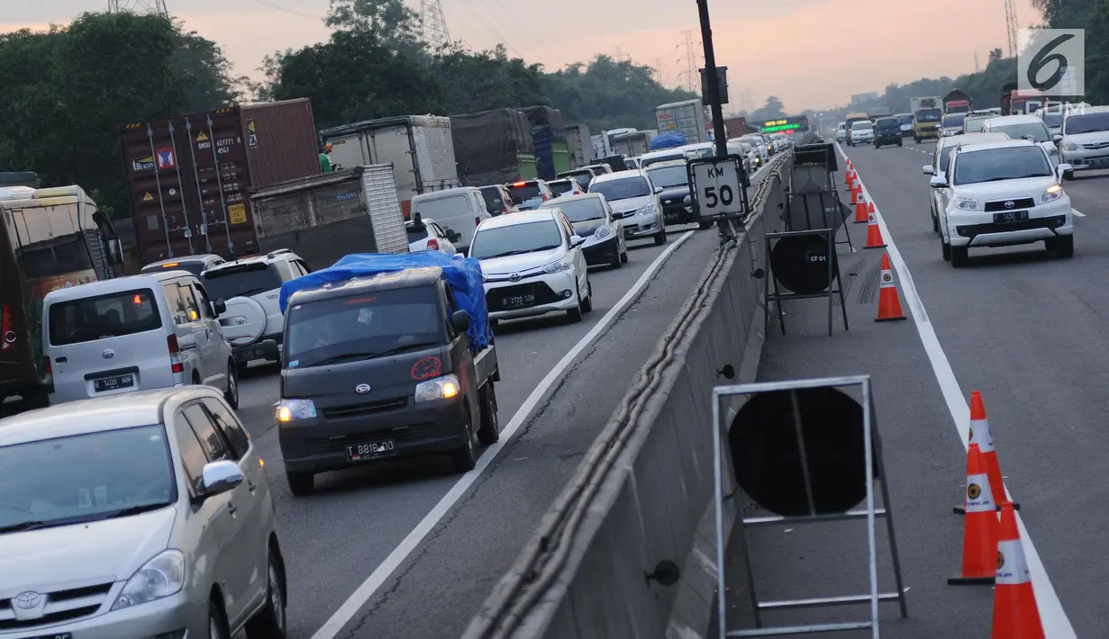
{"label": "orange traffic cone second nearest the camera, overlapping the cone behind", "polygon": [[963,571],[952,586],[993,584],[997,573],[997,506],[978,444],[967,455],[967,516],[963,522]]}

